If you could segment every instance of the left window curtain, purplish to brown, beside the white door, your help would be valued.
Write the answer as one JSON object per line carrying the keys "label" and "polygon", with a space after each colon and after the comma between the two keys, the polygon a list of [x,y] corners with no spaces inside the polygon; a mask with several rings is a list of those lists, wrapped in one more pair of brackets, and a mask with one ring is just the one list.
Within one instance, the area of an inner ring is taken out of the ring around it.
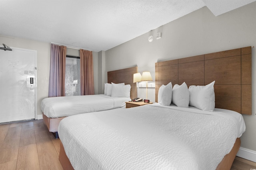
{"label": "left window curtain, purplish to brown, beside the white door", "polygon": [[65,96],[65,46],[51,44],[51,63],[48,97]]}

